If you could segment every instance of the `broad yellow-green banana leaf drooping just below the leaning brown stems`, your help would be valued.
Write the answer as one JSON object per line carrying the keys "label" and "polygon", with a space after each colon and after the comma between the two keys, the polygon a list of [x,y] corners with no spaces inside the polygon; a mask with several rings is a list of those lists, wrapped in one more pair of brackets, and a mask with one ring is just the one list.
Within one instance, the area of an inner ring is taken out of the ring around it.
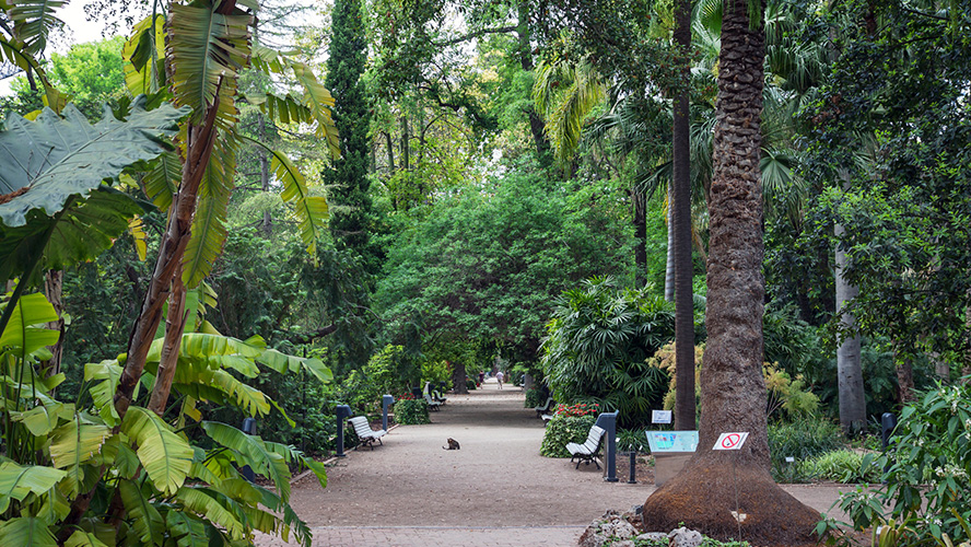
{"label": "broad yellow-green banana leaf drooping just below the leaning brown stems", "polygon": [[132,406],[121,421],[121,431],[138,445],[138,458],[157,490],[172,494],[182,487],[195,452],[151,410]]}

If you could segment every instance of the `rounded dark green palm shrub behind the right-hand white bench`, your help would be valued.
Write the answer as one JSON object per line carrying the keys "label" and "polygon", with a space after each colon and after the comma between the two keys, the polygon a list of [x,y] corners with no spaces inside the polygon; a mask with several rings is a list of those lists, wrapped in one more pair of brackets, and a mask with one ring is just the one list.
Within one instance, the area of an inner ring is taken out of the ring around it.
{"label": "rounded dark green palm shrub behind the right-hand white bench", "polygon": [[667,375],[646,361],[674,339],[671,304],[644,290],[593,278],[557,300],[542,342],[542,372],[560,401],[597,401],[621,427],[646,423]]}

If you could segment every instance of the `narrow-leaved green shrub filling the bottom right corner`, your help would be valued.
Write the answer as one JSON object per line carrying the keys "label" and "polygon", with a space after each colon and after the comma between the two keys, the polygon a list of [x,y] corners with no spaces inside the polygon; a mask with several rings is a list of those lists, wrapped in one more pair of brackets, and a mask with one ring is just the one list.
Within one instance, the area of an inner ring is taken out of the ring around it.
{"label": "narrow-leaved green shrub filling the bottom right corner", "polygon": [[881,524],[882,508],[891,505],[890,517],[913,521],[921,543],[940,543],[943,534],[955,544],[968,540],[971,531],[962,523],[971,522],[971,384],[939,386],[905,407],[891,450],[873,465],[889,466],[886,485],[840,497],[856,529]]}

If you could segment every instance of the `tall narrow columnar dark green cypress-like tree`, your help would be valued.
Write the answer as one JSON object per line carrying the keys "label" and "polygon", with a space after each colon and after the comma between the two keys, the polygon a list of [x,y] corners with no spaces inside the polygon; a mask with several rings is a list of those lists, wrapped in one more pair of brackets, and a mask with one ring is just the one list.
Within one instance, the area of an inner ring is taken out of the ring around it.
{"label": "tall narrow columnar dark green cypress-like tree", "polygon": [[330,233],[338,248],[354,249],[364,257],[367,270],[374,274],[379,264],[370,238],[367,165],[371,147],[367,129],[371,110],[361,81],[367,60],[367,43],[360,0],[337,0],[332,18],[325,85],[337,102],[334,121],[342,155],[324,172],[324,179],[330,185],[328,199],[336,206],[330,214]]}

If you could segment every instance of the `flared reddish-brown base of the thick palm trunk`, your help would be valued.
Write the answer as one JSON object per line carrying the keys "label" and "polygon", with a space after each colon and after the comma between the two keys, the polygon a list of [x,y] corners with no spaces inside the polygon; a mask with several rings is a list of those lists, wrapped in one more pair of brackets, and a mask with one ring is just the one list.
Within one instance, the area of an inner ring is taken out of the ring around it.
{"label": "flared reddish-brown base of the thick palm trunk", "polygon": [[760,467],[742,464],[736,468],[724,461],[695,457],[647,498],[642,519],[646,532],[687,526],[720,540],[789,547],[817,545],[814,529],[820,514],[780,488]]}

